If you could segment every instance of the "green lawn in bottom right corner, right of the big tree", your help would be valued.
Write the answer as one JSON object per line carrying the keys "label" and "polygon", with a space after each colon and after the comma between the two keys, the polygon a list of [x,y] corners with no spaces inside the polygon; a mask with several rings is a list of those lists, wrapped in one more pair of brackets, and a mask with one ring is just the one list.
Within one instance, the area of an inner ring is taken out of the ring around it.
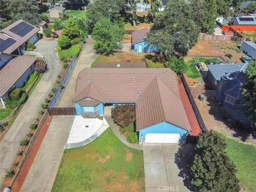
{"label": "green lawn in bottom right corner, right of the big tree", "polygon": [[227,143],[227,154],[237,169],[237,178],[246,191],[256,191],[256,146],[248,145],[221,134]]}

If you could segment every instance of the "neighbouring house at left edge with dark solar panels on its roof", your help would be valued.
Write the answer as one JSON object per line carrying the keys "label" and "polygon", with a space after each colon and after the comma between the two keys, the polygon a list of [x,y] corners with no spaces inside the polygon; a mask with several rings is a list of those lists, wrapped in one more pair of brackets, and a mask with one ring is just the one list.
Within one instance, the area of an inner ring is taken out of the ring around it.
{"label": "neighbouring house at left edge with dark solar panels on its roof", "polygon": [[27,43],[37,42],[39,28],[18,20],[0,31],[0,106],[10,92],[22,87],[34,71],[35,57],[23,56]]}

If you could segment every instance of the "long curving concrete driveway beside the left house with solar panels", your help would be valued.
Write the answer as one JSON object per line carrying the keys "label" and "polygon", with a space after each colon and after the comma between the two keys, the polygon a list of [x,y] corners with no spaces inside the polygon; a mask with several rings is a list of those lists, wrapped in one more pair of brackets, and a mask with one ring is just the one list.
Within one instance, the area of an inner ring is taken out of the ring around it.
{"label": "long curving concrete driveway beside the left house with solar panels", "polygon": [[10,130],[0,143],[0,184],[3,182],[3,175],[7,172],[17,151],[20,149],[19,141],[25,138],[29,132],[29,125],[34,123],[38,111],[41,110],[41,103],[55,84],[55,78],[61,72],[60,60],[55,50],[56,42],[52,39],[41,39],[36,43],[36,50],[44,55],[48,64],[49,71],[45,73],[37,85],[34,92],[30,95],[25,106],[20,111]]}

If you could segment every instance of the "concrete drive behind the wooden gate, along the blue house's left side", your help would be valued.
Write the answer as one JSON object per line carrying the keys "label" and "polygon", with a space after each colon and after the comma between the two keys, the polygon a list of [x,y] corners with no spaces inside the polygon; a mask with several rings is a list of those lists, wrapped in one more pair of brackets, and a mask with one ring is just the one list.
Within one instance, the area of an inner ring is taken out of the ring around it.
{"label": "concrete drive behind the wooden gate, along the blue house's left side", "polygon": [[98,54],[95,53],[93,49],[93,39],[87,38],[86,43],[84,44],[83,51],[78,58],[73,74],[69,80],[69,83],[65,89],[65,92],[62,95],[61,101],[59,103],[59,107],[74,107],[74,103],[72,102],[75,88],[77,76],[80,71],[84,68],[91,68],[91,63],[98,57]]}

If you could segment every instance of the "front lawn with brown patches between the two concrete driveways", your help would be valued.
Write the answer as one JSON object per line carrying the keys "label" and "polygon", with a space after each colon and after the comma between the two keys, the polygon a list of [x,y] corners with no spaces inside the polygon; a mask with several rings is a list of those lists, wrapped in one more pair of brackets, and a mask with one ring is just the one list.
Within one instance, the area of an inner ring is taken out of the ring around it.
{"label": "front lawn with brown patches between the two concrete driveways", "polygon": [[52,191],[144,191],[143,151],[108,128],[86,146],[66,149]]}

